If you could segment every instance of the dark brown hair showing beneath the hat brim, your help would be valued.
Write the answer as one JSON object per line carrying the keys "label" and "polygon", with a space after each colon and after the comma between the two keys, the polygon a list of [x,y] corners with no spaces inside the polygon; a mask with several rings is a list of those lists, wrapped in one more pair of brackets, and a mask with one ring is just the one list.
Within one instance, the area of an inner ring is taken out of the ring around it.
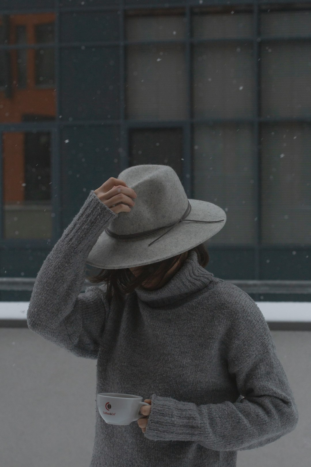
{"label": "dark brown hair showing beneath the hat brim", "polygon": [[[136,287],[142,285],[142,283],[148,283],[149,281],[155,281],[156,284],[160,284],[166,275],[166,273],[173,268],[174,264],[180,262],[179,267],[174,271],[176,273],[184,264],[187,259],[187,254],[190,251],[195,251],[198,256],[198,262],[200,266],[205,268],[209,262],[209,256],[204,243],[197,245],[191,250],[185,251],[180,255],[172,256],[166,260],[155,262],[152,264],[145,264],[144,266],[135,267],[135,273],[137,276],[130,271],[129,268],[124,269],[101,269],[99,274],[96,276],[87,277],[90,282],[107,283],[107,299],[111,303],[112,296],[116,297],[118,302],[124,303],[124,295],[132,292]],[[146,284],[144,284],[146,285]],[[156,285],[154,285],[156,287]]]}

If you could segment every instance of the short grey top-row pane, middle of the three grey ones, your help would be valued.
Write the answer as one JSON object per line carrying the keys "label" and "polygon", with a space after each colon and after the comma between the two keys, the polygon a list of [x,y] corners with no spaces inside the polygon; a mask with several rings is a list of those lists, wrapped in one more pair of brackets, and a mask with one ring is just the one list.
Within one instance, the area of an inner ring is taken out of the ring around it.
{"label": "short grey top-row pane, middle of the three grey ones", "polygon": [[193,37],[197,39],[252,37],[252,13],[194,14]]}

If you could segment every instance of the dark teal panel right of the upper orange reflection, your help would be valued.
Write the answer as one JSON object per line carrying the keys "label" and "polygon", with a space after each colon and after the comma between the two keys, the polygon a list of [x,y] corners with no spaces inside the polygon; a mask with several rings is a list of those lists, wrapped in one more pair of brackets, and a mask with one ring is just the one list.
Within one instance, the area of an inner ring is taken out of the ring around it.
{"label": "dark teal panel right of the upper orange reflection", "polygon": [[118,119],[118,47],[61,50],[62,119]]}

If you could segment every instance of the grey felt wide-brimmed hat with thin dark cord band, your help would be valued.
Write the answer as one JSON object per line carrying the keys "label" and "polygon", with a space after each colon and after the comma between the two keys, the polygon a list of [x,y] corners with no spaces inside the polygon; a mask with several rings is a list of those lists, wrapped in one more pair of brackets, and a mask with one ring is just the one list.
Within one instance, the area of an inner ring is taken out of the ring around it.
{"label": "grey felt wide-brimmed hat with thin dark cord band", "polygon": [[123,269],[159,262],[203,243],[226,223],[221,207],[187,198],[169,165],[134,165],[117,178],[136,192],[135,205],[106,224],[86,260],[90,266]]}

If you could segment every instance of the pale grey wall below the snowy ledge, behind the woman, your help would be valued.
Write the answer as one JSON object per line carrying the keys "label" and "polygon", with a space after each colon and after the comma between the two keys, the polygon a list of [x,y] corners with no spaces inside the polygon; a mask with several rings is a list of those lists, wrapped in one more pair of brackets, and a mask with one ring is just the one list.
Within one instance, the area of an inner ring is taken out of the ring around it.
{"label": "pale grey wall below the snowy ledge, behind the woman", "polygon": [[[299,423],[270,445],[239,451],[237,467],[309,467],[311,333],[271,333]],[[0,355],[0,466],[88,467],[97,361],[76,357],[28,328],[0,328]]]}

